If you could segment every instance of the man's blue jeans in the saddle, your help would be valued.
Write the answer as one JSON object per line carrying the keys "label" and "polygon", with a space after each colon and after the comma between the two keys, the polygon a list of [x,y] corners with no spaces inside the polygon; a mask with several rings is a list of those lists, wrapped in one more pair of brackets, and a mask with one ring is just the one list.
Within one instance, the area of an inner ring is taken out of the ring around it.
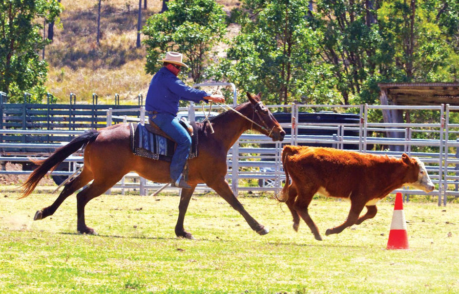
{"label": "man's blue jeans in the saddle", "polygon": [[[152,119],[153,117],[153,119]],[[188,159],[191,137],[188,131],[179,123],[175,116],[168,113],[158,113],[150,116],[153,123],[177,143],[172,161],[170,163],[170,179],[176,181],[185,167]]]}

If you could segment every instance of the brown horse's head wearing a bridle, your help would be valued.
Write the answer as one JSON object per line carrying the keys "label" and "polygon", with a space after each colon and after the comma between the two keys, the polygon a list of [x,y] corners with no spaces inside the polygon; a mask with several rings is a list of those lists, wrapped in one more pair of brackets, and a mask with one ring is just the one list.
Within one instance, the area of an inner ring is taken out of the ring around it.
{"label": "brown horse's head wearing a bridle", "polygon": [[272,115],[271,111],[260,100],[261,93],[257,95],[247,92],[250,104],[253,106],[252,128],[272,138],[272,141],[283,141],[285,131]]}

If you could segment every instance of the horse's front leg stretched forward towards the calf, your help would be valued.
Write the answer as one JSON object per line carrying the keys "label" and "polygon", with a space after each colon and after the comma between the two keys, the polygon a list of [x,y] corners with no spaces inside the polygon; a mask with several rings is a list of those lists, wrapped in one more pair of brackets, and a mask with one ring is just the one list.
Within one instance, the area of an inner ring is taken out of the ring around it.
{"label": "horse's front leg stretched forward towards the calf", "polygon": [[247,221],[247,223],[253,231],[256,231],[260,235],[265,235],[269,233],[269,230],[267,228],[260,225],[244,209],[242,204],[237,200],[236,196],[234,196],[234,193],[231,191],[230,186],[228,185],[228,182],[225,179],[214,183],[207,183],[207,185],[210,188],[214,189],[215,192],[217,192],[220,196],[222,196],[222,198],[225,199],[233,209],[237,210],[240,214],[242,214],[242,216]]}

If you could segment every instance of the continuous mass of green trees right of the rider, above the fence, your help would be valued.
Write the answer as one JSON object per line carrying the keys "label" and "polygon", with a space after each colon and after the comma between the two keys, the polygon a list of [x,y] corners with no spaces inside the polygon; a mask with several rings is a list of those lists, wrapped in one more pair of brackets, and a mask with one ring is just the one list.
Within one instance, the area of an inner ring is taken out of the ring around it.
{"label": "continuous mass of green trees right of the rider, above the fence", "polygon": [[[220,75],[272,104],[377,104],[382,82],[458,80],[454,0],[245,0]],[[411,5],[411,6],[410,6]]]}

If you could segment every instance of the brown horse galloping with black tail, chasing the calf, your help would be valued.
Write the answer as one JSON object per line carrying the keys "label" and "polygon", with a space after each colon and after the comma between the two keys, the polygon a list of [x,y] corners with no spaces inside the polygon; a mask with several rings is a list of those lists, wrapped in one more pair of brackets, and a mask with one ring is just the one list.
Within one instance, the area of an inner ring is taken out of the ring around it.
{"label": "brown horse galloping with black tail, chasing the calf", "polygon": [[[247,96],[249,97],[248,102],[234,108],[239,113],[227,110],[210,119],[214,133],[210,132],[209,122],[197,123],[199,126],[199,156],[188,161],[188,184],[191,188],[183,189],[180,197],[179,216],[175,226],[175,234],[179,237],[192,238],[192,235],[185,231],[183,221],[191,195],[199,183],[206,183],[232,208],[239,211],[252,230],[260,235],[269,232],[244,209],[225,180],[228,169],[228,151],[244,131],[257,130],[271,137],[273,141],[282,141],[285,136],[285,131],[272,116],[271,111],[260,101],[260,94],[247,93]],[[57,167],[65,158],[84,147],[84,164],[81,173],[64,186],[61,194],[51,206],[38,210],[34,220],[52,215],[69,195],[93,180],[77,194],[77,230],[80,233],[94,234],[95,231],[87,227],[84,221],[85,205],[119,182],[126,173],[134,171],[154,182],[169,182],[169,163],[134,155],[130,149],[129,135],[128,124],[91,130],[58,148],[47,159],[36,162],[40,166],[21,186],[21,198],[32,193],[49,170]]]}

